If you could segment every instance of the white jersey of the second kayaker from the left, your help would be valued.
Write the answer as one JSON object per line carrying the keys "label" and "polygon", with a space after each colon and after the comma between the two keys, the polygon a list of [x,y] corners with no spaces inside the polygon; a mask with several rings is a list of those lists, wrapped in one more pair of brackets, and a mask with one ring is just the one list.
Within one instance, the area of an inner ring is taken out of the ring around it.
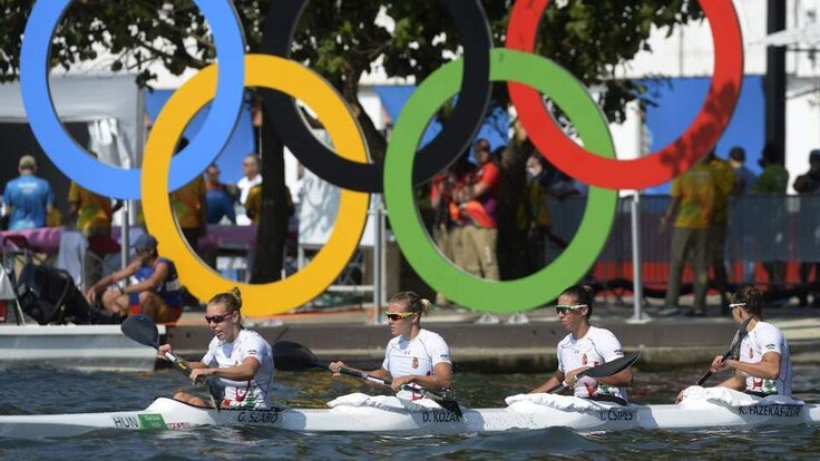
{"label": "white jersey of the second kayaker from the left", "polygon": [[410,341],[401,335],[390,340],[381,367],[393,377],[408,374],[430,376],[439,363],[452,363],[450,349],[441,336],[422,328]]}

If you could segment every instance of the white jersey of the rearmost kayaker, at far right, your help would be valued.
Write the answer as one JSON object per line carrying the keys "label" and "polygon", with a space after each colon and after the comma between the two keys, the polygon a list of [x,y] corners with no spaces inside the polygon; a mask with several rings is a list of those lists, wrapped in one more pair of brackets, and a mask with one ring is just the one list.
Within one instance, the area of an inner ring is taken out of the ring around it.
{"label": "white jersey of the rearmost kayaker, at far right", "polygon": [[743,373],[746,376],[746,391],[791,396],[793,372],[789,343],[777,326],[768,322],[758,322],[754,330],[749,332],[749,335],[740,343],[739,352],[740,361],[745,363],[758,363],[769,352],[780,354],[780,376],[777,380],[764,380]]}

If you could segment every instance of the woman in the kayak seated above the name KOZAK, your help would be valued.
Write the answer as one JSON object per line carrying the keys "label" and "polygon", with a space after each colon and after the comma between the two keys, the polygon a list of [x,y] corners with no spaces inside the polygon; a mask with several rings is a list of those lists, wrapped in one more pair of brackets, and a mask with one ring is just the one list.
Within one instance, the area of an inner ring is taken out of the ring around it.
{"label": "woman in the kayak seated above the name KOZAK", "polygon": [[[384,352],[381,369],[365,372],[391,381],[399,391],[402,384],[418,384],[433,391],[450,388],[452,362],[450,349],[438,334],[421,327],[421,315],[432,303],[413,292],[397,293],[388,304],[388,325],[393,337]],[[344,362],[333,362],[330,369],[339,374]]]}

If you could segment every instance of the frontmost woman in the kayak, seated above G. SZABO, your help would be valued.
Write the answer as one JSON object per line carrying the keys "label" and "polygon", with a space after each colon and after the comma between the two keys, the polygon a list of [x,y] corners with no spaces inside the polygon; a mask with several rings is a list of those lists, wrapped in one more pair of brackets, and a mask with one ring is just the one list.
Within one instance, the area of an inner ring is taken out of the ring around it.
{"label": "frontmost woman in the kayak, seated above G. SZABO", "polygon": [[[225,400],[221,405],[264,410],[271,408],[273,355],[271,345],[258,333],[242,326],[240,288],[219,293],[211,298],[205,321],[214,332],[208,352],[199,362],[188,363],[194,369],[191,380],[196,383],[209,376],[225,384]],[[159,346],[157,357],[172,352],[169,344]],[[174,399],[193,405],[209,406],[204,400],[177,392]]]}

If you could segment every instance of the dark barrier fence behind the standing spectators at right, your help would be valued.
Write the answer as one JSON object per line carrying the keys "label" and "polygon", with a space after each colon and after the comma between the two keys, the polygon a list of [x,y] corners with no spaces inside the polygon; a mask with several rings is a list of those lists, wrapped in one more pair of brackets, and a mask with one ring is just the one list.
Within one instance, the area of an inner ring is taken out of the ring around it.
{"label": "dark barrier fence behind the standing spectators at right", "polygon": [[[609,238],[598,257],[592,276],[606,286],[613,281],[632,281],[632,197],[618,199],[617,213]],[[665,288],[670,262],[672,224],[661,230],[661,216],[670,196],[642,196],[640,199],[640,233],[644,285]],[[572,239],[580,223],[586,197],[550,200],[553,233]],[[555,254],[554,249],[553,254]],[[800,263],[820,263],[820,195],[751,195],[732,198],[725,264],[732,284],[753,283],[770,286],[764,262],[785,265],[783,285],[800,283]],[[820,274],[818,274],[820,275]],[[692,281],[691,268],[684,282]]]}

